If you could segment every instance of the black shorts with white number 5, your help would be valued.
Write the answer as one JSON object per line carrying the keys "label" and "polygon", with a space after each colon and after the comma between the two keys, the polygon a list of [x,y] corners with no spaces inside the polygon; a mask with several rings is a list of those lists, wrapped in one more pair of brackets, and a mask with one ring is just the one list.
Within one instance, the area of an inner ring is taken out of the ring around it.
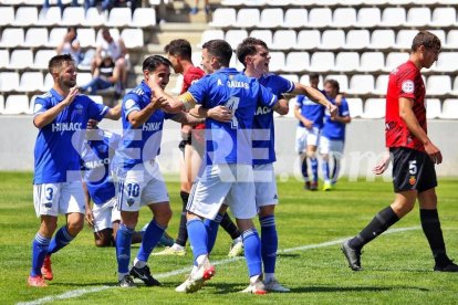
{"label": "black shorts with white number 5", "polygon": [[437,187],[436,169],[425,151],[406,147],[389,148],[393,155],[393,186],[395,192],[423,192]]}

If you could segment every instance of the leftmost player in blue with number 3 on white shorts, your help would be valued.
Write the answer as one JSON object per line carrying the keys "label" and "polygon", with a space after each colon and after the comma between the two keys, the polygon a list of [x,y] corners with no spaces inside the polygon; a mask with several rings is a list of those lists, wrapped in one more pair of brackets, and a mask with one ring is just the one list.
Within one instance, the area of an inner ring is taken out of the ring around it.
{"label": "leftmost player in blue with number 3 on white shorts", "polygon": [[[33,124],[39,128],[34,149],[33,202],[41,224],[32,242],[30,286],[43,287],[51,281],[50,255],[67,245],[84,225],[84,191],[80,156],[90,118],[118,119],[119,107],[96,104],[76,87],[76,66],[71,55],[56,55],[49,62],[53,87],[37,97]],[[66,224],[58,227],[58,215]]]}

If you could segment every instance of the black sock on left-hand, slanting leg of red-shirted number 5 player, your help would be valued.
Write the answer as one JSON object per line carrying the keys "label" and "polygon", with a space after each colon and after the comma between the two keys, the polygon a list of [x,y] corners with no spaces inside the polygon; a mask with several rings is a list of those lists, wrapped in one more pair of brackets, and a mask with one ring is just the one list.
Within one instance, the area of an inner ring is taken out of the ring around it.
{"label": "black sock on left-hand, slanting leg of red-shirted number 5 player", "polygon": [[362,249],[366,243],[385,232],[398,220],[399,218],[393,211],[392,207],[383,209],[374,217],[366,228],[360,232],[360,234],[348,242],[348,245],[353,249]]}

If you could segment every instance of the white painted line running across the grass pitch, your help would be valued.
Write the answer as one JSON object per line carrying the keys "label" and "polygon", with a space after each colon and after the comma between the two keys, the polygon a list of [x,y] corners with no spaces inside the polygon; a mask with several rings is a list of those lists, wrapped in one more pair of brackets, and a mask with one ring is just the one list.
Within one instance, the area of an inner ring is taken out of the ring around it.
{"label": "white painted line running across the grass pitch", "polygon": [[[384,232],[383,234],[394,234],[394,233],[399,233],[399,232],[406,232],[406,231],[413,231],[413,230],[418,230],[420,229],[420,227],[408,227],[408,228],[399,228],[399,229],[391,229],[386,232]],[[296,248],[290,248],[290,249],[284,249],[284,250],[279,250],[278,253],[289,253],[289,252],[294,252],[294,251],[305,251],[305,250],[310,250],[310,249],[318,249],[318,248],[324,248],[324,246],[329,246],[329,245],[335,245],[335,244],[340,244],[344,241],[346,241],[348,238],[344,238],[344,239],[339,239],[339,240],[333,240],[333,241],[329,241],[329,242],[323,242],[323,243],[315,243],[315,244],[308,244],[308,245],[301,245],[301,246],[296,246]],[[211,262],[214,265],[223,265],[227,263],[232,263],[239,260],[244,260],[243,256],[238,256],[238,257],[233,257],[233,259],[226,259],[226,260],[220,260],[220,261],[215,261]],[[169,276],[175,276],[178,274],[184,274],[184,273],[188,273],[190,272],[190,267],[184,267],[184,269],[179,269],[179,270],[175,270],[175,271],[170,271],[170,272],[166,272],[166,273],[159,273],[156,274],[155,277],[156,278],[165,278],[165,277],[169,277]],[[83,294],[86,293],[96,293],[96,292],[101,292],[101,291],[105,291],[105,290],[111,290],[111,288],[117,288],[117,286],[96,286],[96,287],[92,287],[92,288],[83,288],[83,290],[75,290],[75,291],[69,291],[66,293],[63,294],[59,294],[59,295],[50,295],[46,297],[42,297],[35,301],[30,301],[30,302],[20,302],[17,303],[17,305],[37,305],[37,304],[44,304],[46,302],[54,302],[58,299],[66,299],[66,298],[73,298],[73,297],[79,297],[82,296]]]}

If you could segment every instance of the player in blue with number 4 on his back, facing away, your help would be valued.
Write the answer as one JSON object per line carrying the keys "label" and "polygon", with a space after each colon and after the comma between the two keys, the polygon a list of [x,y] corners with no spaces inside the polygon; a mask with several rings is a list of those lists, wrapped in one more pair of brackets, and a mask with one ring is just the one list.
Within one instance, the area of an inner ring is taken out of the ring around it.
{"label": "player in blue with number 4 on his back, facing away", "polygon": [[[187,108],[198,104],[198,113],[204,113],[204,116],[218,106],[228,109],[226,120],[225,114],[220,120],[211,117],[206,119],[205,164],[187,207],[187,228],[197,266],[189,278],[177,287],[178,292],[196,292],[215,274],[215,267],[208,259],[214,246],[209,241],[215,240],[211,236],[212,229],[218,228],[229,206],[243,236],[250,275],[250,285],[244,292],[266,293],[261,280],[260,240],[251,220],[257,214],[251,128],[258,103],[274,109],[288,105],[280,105],[277,96],[256,78],[229,67],[231,56],[232,49],[226,41],[206,42],[202,45],[201,66],[208,75],[177,98]],[[204,219],[210,219],[215,224],[206,228]]]}

